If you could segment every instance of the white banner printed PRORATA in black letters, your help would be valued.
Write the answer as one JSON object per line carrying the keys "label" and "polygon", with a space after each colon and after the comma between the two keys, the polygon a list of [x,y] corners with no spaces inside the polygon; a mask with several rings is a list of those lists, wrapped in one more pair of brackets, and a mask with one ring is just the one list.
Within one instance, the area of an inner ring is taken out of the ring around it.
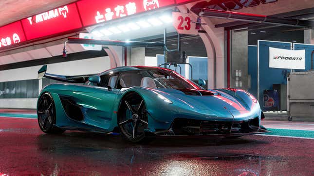
{"label": "white banner printed PRORATA in black letters", "polygon": [[269,67],[305,69],[305,49],[289,50],[269,47]]}

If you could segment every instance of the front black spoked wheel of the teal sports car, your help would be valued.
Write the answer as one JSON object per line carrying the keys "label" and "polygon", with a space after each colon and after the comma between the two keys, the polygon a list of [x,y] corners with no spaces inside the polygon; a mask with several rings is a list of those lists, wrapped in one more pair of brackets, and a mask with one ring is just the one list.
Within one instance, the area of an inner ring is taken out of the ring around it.
{"label": "front black spoked wheel of the teal sports car", "polygon": [[117,121],[123,139],[132,143],[150,141],[144,131],[148,128],[148,112],[143,98],[137,93],[122,98]]}

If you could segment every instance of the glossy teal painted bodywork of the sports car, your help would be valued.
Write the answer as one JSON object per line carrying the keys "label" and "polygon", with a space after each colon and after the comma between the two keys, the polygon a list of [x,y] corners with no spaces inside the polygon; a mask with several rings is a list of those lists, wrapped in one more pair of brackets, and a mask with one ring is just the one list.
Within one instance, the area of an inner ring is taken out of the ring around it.
{"label": "glossy teal painted bodywork of the sports car", "polygon": [[[137,67],[117,67],[107,70],[123,72],[140,70]],[[150,89],[131,87],[108,90],[108,88],[90,85],[51,84],[42,92],[49,92],[55,101],[56,126],[60,128],[78,128],[111,132],[117,127],[117,115],[121,99],[131,92],[142,96],[148,111],[148,131],[169,129],[175,118],[198,120],[241,121],[259,117],[259,103],[253,102],[243,91],[211,90],[214,96],[189,96],[176,89]],[[40,94],[40,95],[41,95]],[[39,95],[39,96],[40,96]],[[71,97],[81,106],[84,119],[75,121],[69,118],[62,107],[60,95]],[[172,103],[164,101],[166,97]]]}

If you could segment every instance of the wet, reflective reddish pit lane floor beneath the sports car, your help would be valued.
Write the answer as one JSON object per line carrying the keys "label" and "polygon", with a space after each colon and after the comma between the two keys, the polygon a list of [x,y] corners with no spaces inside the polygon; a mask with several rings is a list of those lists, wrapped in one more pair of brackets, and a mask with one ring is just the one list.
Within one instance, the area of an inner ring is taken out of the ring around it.
{"label": "wet, reflective reddish pit lane floor beneath the sports car", "polygon": [[9,117],[0,117],[0,176],[314,175],[313,123],[262,121],[276,130],[269,136],[128,144],[120,136],[99,133],[48,135],[32,112],[3,113]]}

